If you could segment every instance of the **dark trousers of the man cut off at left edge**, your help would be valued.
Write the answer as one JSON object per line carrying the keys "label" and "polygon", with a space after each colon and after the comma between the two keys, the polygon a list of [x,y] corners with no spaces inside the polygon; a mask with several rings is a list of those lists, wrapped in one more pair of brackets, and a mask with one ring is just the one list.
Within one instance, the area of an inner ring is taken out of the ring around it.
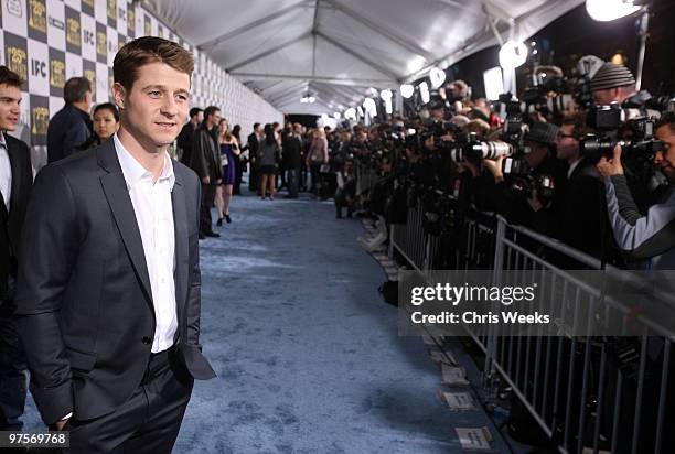
{"label": "dark trousers of the man cut off at left edge", "polygon": [[28,367],[17,323],[8,307],[0,309],[0,430],[20,431],[25,407]]}

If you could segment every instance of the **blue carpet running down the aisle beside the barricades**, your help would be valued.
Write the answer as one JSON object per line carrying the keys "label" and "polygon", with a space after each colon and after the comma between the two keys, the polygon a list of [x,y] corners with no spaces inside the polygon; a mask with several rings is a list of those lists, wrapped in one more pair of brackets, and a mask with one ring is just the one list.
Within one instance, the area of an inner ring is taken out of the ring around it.
{"label": "blue carpet running down the aisle beside the barricades", "polygon": [[[236,197],[202,241],[202,343],[175,453],[459,452],[440,375],[398,337],[358,220],[332,204]],[[457,422],[457,418],[453,422]],[[32,404],[26,429],[40,425]]]}

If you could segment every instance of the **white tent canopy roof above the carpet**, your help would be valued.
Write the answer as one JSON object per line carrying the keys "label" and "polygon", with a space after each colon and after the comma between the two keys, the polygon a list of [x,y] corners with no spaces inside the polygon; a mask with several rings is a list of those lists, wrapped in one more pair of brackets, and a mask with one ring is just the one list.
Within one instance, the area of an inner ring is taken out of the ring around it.
{"label": "white tent canopy roof above the carpet", "polygon": [[[525,39],[583,0],[146,0],[176,34],[288,114],[330,114],[371,87]],[[300,102],[311,95],[314,104]]]}

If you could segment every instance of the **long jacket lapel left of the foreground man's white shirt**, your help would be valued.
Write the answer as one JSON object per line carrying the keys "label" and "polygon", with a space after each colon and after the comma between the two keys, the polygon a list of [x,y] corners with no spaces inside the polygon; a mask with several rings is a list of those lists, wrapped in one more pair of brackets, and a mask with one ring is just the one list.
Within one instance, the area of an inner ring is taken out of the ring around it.
{"label": "long jacket lapel left of the foreground man's white shirt", "polygon": [[138,275],[146,296],[152,304],[152,288],[150,287],[150,277],[148,274],[148,264],[146,263],[146,255],[143,251],[143,242],[141,240],[136,213],[127,188],[125,175],[121,172],[121,166],[115,151],[115,142],[107,141],[96,149],[98,162],[108,173],[100,177],[106,199],[115,217],[115,224],[121,235],[125,248],[136,274]]}

